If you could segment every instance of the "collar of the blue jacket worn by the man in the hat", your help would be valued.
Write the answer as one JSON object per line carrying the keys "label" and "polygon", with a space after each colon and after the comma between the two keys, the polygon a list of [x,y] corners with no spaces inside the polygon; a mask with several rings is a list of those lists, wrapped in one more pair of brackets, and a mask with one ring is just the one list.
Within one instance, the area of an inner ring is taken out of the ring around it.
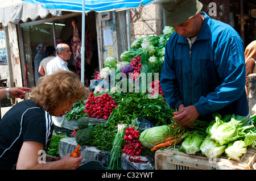
{"label": "collar of the blue jacket worn by the man in the hat", "polygon": [[[209,40],[211,33],[210,33],[210,26],[212,24],[210,16],[208,16],[205,12],[201,11],[201,15],[204,16],[204,22],[201,26],[199,34],[197,35],[196,41],[198,40]],[[188,44],[188,40],[186,37],[179,35],[179,39],[177,43],[184,43]]]}

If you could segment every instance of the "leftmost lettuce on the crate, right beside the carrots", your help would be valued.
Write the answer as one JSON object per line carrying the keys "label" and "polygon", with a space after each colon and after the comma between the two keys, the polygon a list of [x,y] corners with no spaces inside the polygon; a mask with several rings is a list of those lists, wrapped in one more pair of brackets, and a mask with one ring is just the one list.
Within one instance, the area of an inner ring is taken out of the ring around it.
{"label": "leftmost lettuce on the crate, right beside the carrots", "polygon": [[189,134],[181,144],[181,148],[185,150],[187,154],[196,154],[200,151],[200,145],[204,141],[204,137],[195,133]]}

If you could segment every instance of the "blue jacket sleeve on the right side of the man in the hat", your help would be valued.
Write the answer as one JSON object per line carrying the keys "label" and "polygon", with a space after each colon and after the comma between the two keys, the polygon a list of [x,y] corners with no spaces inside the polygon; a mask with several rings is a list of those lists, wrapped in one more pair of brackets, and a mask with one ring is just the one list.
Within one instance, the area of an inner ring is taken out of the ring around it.
{"label": "blue jacket sleeve on the right side of the man in the hat", "polygon": [[[200,115],[207,115],[224,108],[239,99],[245,91],[245,58],[243,43],[238,37],[230,37],[215,50],[214,62],[220,85],[195,103]],[[210,81],[210,80],[209,80]]]}

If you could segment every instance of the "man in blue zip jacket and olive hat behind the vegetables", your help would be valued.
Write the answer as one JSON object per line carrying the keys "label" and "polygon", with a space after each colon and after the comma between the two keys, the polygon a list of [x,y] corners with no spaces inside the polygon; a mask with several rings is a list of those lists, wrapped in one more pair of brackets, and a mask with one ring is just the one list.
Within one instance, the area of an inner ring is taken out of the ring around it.
{"label": "man in blue zip jacket and olive hat behind the vegetables", "polygon": [[162,0],[166,44],[160,85],[174,120],[189,126],[213,120],[214,112],[248,116],[243,41],[228,24],[201,12],[197,0]]}

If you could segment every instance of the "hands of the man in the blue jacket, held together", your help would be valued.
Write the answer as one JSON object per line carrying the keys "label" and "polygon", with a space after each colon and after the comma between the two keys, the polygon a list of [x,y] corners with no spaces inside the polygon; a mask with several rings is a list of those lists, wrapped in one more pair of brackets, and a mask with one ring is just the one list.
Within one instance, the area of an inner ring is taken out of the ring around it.
{"label": "hands of the man in the blue jacket, held together", "polygon": [[184,104],[180,104],[178,112],[174,112],[173,119],[181,127],[189,127],[199,116],[200,113],[196,110],[195,106],[185,107]]}

